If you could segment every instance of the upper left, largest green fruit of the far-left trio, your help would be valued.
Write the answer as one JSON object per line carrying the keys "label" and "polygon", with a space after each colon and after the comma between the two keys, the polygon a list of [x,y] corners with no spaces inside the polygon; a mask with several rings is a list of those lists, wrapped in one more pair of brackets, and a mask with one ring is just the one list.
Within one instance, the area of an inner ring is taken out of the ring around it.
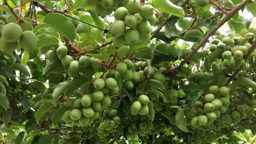
{"label": "upper left, largest green fruit of the far-left trio", "polygon": [[18,39],[20,39],[21,36],[22,29],[20,25],[16,23],[8,23],[2,28],[2,39],[8,43],[16,42]]}

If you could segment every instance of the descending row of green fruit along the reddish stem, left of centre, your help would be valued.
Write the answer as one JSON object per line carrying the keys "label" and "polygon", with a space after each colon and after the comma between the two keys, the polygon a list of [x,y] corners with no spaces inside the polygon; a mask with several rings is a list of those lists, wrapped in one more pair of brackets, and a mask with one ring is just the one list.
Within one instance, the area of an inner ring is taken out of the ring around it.
{"label": "descending row of green fruit along the reddish stem, left of centre", "polygon": [[79,60],[74,60],[72,56],[68,55],[68,48],[64,45],[58,47],[56,51],[47,51],[45,58],[51,61],[60,59],[62,65],[68,68],[68,76],[73,78],[78,76],[79,72],[83,73],[89,66],[96,71],[101,68],[100,60],[93,57],[89,58],[83,55],[79,57]]}

